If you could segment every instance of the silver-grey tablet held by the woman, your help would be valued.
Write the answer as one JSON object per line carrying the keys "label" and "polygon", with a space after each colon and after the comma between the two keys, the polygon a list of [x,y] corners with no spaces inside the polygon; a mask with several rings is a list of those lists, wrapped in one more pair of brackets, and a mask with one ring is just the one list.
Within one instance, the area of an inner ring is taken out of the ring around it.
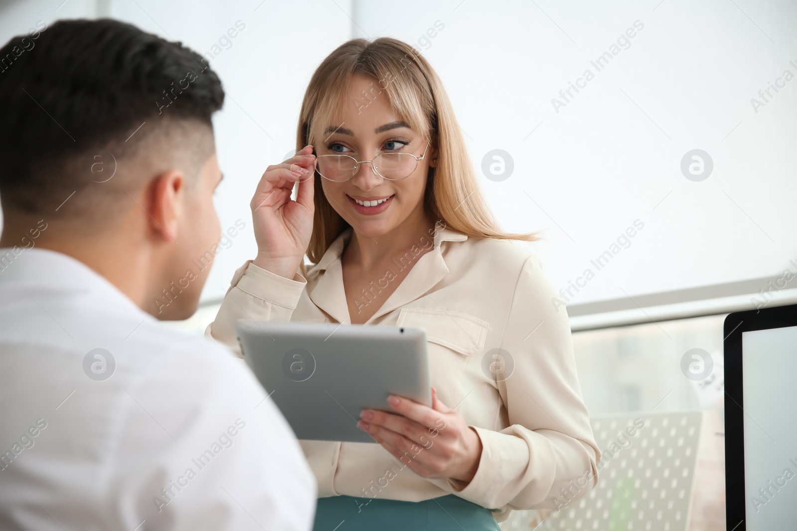
{"label": "silver-grey tablet held by the woman", "polygon": [[375,443],[357,428],[387,396],[431,407],[426,331],[306,322],[236,325],[241,352],[297,439]]}

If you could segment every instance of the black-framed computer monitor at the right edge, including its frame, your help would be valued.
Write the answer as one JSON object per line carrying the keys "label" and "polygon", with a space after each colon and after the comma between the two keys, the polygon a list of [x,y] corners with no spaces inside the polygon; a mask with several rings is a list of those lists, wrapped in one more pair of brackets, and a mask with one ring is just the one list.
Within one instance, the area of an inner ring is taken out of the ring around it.
{"label": "black-framed computer monitor at the right edge, including its frame", "polygon": [[797,305],[724,322],[728,530],[795,529]]}

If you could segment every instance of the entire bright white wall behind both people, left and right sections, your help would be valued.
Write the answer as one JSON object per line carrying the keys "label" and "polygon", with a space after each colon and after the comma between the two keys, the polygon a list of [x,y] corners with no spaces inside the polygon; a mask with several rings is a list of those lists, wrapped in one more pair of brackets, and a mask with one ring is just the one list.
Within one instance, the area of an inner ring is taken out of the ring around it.
{"label": "entire bright white wall behind both people, left and right sections", "polygon": [[[797,76],[794,2],[61,2],[0,6],[0,38],[38,19],[100,13],[203,53],[235,21],[246,25],[212,65],[228,91],[215,120],[226,174],[218,211],[223,227],[241,218],[247,229],[217,257],[205,301],[219,299],[253,256],[254,185],[294,147],[313,69],[352,35],[390,35],[422,50],[477,168],[489,150],[511,155],[512,175],[481,185],[505,228],[543,231],[532,247],[557,289],[587,267],[595,272],[569,303],[795,269],[797,80],[757,113],[751,105],[785,70]],[[590,61],[634,21],[644,28],[598,72]],[[424,39],[429,29],[434,37]],[[587,68],[595,79],[557,113],[552,98]],[[680,170],[695,148],[713,158],[703,182]],[[637,219],[644,228],[630,247],[598,271],[590,260]]]}

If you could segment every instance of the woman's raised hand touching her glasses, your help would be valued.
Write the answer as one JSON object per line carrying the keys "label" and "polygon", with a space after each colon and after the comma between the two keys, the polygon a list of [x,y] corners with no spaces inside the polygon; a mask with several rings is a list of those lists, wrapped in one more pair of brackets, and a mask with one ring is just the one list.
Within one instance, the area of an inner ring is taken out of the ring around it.
{"label": "woman's raised hand touching her glasses", "polygon": [[[257,240],[253,264],[292,279],[304,260],[312,234],[313,182],[316,157],[312,146],[275,166],[266,168],[252,202],[252,222]],[[299,181],[296,201],[293,184]]]}

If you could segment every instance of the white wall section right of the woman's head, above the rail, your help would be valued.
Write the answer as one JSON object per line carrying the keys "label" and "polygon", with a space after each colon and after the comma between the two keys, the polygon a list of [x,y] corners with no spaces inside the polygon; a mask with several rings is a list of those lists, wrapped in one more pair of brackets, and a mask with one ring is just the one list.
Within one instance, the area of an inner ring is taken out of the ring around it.
{"label": "white wall section right of the woman's head, above the rail", "polygon": [[[431,61],[477,168],[489,150],[512,156],[508,179],[481,185],[505,228],[544,231],[534,247],[557,289],[595,272],[570,303],[797,271],[797,79],[757,113],[750,102],[797,76],[795,2],[355,0],[355,22]],[[557,113],[587,68],[595,79]],[[680,170],[695,148],[713,158],[703,182]],[[592,266],[637,219],[630,246]]]}

